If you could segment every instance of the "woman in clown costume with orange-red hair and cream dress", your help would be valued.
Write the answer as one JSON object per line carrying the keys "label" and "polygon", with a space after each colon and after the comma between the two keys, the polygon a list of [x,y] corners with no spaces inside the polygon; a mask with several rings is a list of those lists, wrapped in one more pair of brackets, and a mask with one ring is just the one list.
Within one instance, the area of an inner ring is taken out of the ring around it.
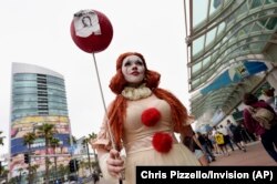
{"label": "woman in clown costume with orange-red hair and cream dress", "polygon": [[[110,83],[116,98],[92,143],[105,178],[119,178],[124,172],[124,182],[134,184],[136,165],[201,165],[174,135],[193,135],[192,116],[175,95],[158,88],[160,76],[147,69],[141,53],[119,57]],[[122,149],[125,160],[120,155]]]}

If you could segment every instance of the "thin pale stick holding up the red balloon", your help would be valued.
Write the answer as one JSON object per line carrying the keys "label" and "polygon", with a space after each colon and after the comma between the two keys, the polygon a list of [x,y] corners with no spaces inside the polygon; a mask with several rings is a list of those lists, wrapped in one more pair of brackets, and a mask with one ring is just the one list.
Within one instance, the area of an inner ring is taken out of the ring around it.
{"label": "thin pale stick holding up the red balloon", "polygon": [[92,57],[93,57],[94,67],[95,67],[96,75],[98,75],[98,82],[99,82],[101,99],[102,99],[102,103],[103,103],[103,106],[104,106],[105,116],[107,119],[107,121],[106,121],[107,132],[109,132],[109,135],[110,135],[111,141],[112,141],[112,147],[116,150],[115,143],[114,143],[114,137],[113,137],[113,134],[112,134],[112,131],[111,131],[111,127],[110,127],[110,121],[109,121],[109,117],[107,117],[107,110],[106,110],[106,105],[105,105],[104,93],[103,93],[103,89],[102,89],[102,85],[101,85],[100,74],[99,74],[99,69],[98,69],[98,63],[96,63],[96,59],[95,59],[94,53],[92,53]]}

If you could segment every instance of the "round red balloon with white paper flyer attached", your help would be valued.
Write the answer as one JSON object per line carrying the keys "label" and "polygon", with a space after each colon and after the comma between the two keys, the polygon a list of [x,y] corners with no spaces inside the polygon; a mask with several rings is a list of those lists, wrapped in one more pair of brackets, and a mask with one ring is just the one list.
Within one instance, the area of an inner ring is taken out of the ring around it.
{"label": "round red balloon with white paper flyer attached", "polygon": [[113,38],[112,23],[105,14],[95,10],[75,13],[70,31],[74,43],[89,53],[105,50]]}

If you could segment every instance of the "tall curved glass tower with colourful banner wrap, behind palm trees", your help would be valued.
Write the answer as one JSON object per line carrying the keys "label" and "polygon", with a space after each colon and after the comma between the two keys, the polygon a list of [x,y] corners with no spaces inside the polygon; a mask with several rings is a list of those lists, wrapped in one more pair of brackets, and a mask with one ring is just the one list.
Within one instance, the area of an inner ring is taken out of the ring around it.
{"label": "tall curved glass tower with colourful banner wrap, behind palm trees", "polygon": [[[66,156],[70,146],[70,120],[68,114],[64,79],[61,74],[45,68],[12,63],[12,96],[10,119],[10,164],[11,177],[21,176],[28,168],[24,163],[23,136],[38,132],[43,124],[54,124],[54,137],[59,139],[59,147],[50,147],[49,154],[62,154],[58,157],[58,165],[66,166],[70,157]],[[31,145],[31,165],[37,167],[38,176],[45,170],[44,137],[37,137]],[[54,167],[54,159],[50,157],[50,172]],[[28,173],[28,172],[25,172]]]}

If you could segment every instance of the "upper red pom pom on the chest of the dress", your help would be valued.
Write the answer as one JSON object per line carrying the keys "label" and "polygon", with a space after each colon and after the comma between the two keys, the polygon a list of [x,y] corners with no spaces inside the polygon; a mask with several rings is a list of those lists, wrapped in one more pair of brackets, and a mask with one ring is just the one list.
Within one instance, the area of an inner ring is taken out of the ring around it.
{"label": "upper red pom pom on the chest of the dress", "polygon": [[161,120],[161,113],[157,109],[151,108],[142,113],[141,120],[146,126],[154,126]]}

